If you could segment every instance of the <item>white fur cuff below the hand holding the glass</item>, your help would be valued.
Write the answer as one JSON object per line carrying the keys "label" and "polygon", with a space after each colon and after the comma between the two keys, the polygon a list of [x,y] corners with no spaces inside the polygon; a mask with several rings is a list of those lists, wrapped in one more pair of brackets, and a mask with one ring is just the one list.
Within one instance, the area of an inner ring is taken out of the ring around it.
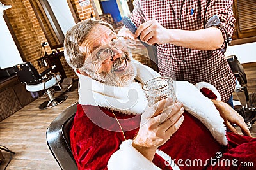
{"label": "white fur cuff below the hand holding the glass", "polygon": [[132,146],[132,140],[124,141],[120,149],[111,155],[108,160],[110,170],[158,170],[159,167],[145,158],[138,150]]}

